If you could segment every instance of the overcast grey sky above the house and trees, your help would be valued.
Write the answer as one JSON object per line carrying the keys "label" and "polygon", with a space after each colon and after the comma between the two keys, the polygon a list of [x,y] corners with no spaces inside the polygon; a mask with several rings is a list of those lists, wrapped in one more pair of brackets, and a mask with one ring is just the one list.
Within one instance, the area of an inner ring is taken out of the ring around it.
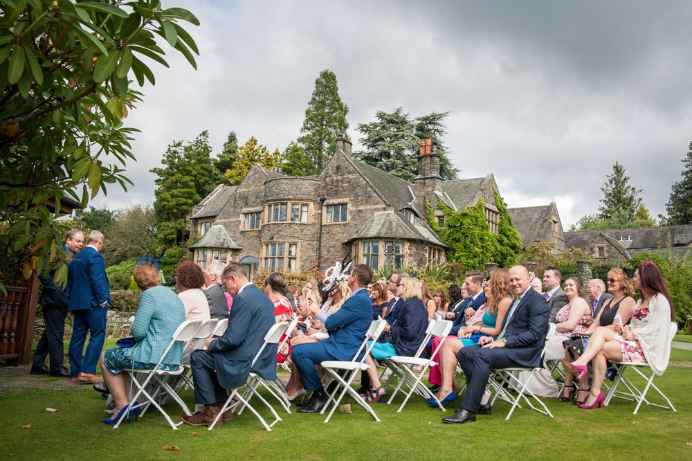
{"label": "overcast grey sky above the house and trees", "polygon": [[377,110],[449,111],[460,178],[495,174],[511,208],[555,201],[565,229],[596,213],[612,164],[625,165],[653,216],[664,213],[692,141],[689,1],[164,1],[200,56],[152,63],[156,86],[130,112],[138,127],[129,192],[93,204],[154,200],[168,144],[208,129],[271,150],[298,137],[322,69],[336,73],[349,135]]}

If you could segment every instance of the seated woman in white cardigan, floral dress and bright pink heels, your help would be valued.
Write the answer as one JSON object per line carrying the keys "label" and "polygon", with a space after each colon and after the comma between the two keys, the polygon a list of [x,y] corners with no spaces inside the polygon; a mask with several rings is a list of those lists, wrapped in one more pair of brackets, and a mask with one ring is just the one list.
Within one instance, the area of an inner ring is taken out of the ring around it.
{"label": "seated woman in white cardigan, floral dress and bright pink heels", "polygon": [[673,340],[670,324],[674,317],[666,282],[658,266],[648,260],[637,267],[634,282],[635,289],[641,291],[641,298],[637,301],[630,325],[625,325],[624,329],[616,325],[614,331],[608,327],[597,328],[579,359],[568,364],[579,373],[577,379],[580,381],[587,379],[589,363],[592,366],[589,397],[579,408],[603,408],[605,395],[601,392],[601,385],[608,360],[646,362],[655,374],[663,374],[668,366]]}

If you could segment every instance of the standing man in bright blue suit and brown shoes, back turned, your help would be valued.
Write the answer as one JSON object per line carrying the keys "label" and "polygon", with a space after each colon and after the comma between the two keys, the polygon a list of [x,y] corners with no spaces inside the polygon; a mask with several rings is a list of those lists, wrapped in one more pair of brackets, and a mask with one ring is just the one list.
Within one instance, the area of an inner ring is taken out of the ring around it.
{"label": "standing man in bright blue suit and brown shoes, back turned", "polygon": [[[106,338],[106,313],[111,301],[106,267],[99,251],[103,246],[103,234],[92,230],[86,236],[86,248],[67,266],[67,291],[70,293],[69,310],[75,316],[70,339],[70,381],[78,383],[102,383],[96,376],[103,341]],[[82,356],[86,332],[89,345]]]}

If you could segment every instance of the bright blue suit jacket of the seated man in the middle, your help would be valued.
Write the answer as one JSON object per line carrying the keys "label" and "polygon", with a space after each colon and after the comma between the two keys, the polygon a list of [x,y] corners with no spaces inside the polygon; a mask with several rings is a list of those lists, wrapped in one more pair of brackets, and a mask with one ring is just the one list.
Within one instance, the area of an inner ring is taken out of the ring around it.
{"label": "bright blue suit jacket of the seated man in the middle", "polygon": [[353,359],[358,347],[365,339],[365,333],[372,323],[372,303],[367,290],[353,293],[325,321],[329,338],[324,342],[327,353],[337,360]]}

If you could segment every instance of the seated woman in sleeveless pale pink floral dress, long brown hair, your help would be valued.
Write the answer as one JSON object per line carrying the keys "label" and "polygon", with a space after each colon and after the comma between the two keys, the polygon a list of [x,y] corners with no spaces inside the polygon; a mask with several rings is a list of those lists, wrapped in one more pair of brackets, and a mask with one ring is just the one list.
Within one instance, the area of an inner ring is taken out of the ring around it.
{"label": "seated woman in sleeveless pale pink floral dress, long brown hair", "polygon": [[[549,339],[544,360],[559,360],[565,355],[565,347],[572,342],[572,336],[583,334],[591,325],[593,312],[586,302],[586,293],[581,280],[570,277],[563,285],[567,304],[558,311],[555,318],[555,334]],[[566,342],[566,343],[565,343]],[[528,379],[529,372],[519,372],[519,380]],[[543,397],[558,397],[558,383],[548,368],[534,373],[528,389]]]}

